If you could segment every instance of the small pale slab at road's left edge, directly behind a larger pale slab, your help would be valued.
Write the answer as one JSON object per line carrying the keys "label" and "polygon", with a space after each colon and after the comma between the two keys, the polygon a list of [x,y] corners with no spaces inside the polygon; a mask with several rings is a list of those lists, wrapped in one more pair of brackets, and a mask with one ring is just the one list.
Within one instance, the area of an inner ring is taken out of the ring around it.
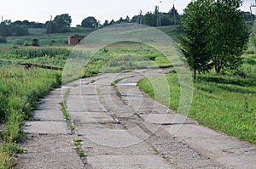
{"label": "small pale slab at road's left edge, directly behind a larger pale slab", "polygon": [[35,110],[33,119],[40,121],[66,121],[61,110]]}

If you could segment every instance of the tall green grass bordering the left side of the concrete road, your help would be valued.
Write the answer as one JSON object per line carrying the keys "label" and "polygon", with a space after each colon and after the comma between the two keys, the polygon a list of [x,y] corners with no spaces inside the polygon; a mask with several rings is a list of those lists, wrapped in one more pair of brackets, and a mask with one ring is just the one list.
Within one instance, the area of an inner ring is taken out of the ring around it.
{"label": "tall green grass bordering the left side of the concrete road", "polygon": [[61,82],[61,73],[53,70],[29,69],[18,65],[0,67],[0,168],[11,168],[14,155],[22,149],[16,144],[25,135],[20,126],[38,98],[43,98]]}

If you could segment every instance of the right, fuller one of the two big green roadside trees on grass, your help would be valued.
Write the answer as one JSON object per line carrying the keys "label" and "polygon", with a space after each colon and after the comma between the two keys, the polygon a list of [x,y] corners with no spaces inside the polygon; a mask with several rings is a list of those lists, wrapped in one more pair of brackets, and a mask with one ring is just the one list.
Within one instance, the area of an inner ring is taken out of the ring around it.
{"label": "right, fuller one of the two big green roadside trees on grass", "polygon": [[243,13],[238,10],[240,1],[218,0],[212,3],[211,37],[209,46],[216,74],[234,70],[241,65],[241,54],[247,47],[247,27]]}

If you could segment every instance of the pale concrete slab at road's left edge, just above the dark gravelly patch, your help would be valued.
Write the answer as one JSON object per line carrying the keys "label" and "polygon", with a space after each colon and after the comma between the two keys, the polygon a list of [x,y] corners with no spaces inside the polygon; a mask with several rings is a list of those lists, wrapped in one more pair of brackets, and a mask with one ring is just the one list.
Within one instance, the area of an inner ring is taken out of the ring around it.
{"label": "pale concrete slab at road's left edge, just above the dark gravelly patch", "polygon": [[69,130],[65,121],[26,121],[22,127],[26,133],[40,134],[68,134]]}

